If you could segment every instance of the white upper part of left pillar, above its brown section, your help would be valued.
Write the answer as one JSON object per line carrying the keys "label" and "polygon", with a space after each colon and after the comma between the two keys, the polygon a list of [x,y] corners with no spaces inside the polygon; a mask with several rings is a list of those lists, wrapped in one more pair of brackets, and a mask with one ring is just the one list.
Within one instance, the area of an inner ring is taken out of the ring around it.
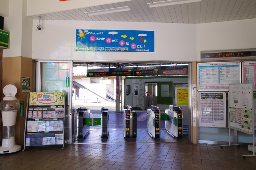
{"label": "white upper part of left pillar, above its brown section", "polygon": [[10,32],[9,49],[3,57],[32,57],[32,18],[26,16],[26,0],[10,0],[9,16],[4,17],[4,30]]}

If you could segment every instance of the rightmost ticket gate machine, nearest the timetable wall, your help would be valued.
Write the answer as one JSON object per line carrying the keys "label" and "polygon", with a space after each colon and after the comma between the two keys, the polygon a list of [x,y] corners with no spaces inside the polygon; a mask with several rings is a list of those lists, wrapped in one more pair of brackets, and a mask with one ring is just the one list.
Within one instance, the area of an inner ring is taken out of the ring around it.
{"label": "rightmost ticket gate machine, nearest the timetable wall", "polygon": [[183,111],[180,107],[173,105],[165,110],[167,121],[165,121],[166,131],[174,137],[182,137],[182,119]]}

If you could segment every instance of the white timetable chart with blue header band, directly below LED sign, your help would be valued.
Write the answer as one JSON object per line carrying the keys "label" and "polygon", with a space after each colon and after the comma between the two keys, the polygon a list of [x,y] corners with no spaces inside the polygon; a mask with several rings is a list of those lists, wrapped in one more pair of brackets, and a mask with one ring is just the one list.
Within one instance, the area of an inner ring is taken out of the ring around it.
{"label": "white timetable chart with blue header band, directly below LED sign", "polygon": [[198,63],[198,91],[228,91],[241,83],[241,63]]}

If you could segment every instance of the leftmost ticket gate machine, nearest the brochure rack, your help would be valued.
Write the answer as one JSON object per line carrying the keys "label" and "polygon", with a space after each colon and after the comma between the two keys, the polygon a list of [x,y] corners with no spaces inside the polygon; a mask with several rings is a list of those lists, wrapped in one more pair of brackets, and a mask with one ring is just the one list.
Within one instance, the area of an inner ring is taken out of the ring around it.
{"label": "leftmost ticket gate machine, nearest the brochure rack", "polygon": [[90,133],[90,127],[84,125],[84,118],[90,118],[90,109],[86,107],[79,107],[77,109],[78,113],[78,140],[84,140],[86,136]]}

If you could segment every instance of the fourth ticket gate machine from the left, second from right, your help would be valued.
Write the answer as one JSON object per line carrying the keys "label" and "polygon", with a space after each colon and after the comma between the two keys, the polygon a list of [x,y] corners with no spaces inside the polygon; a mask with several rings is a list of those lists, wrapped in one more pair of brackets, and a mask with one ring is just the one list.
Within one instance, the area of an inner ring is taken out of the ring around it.
{"label": "fourth ticket gate machine from the left, second from right", "polygon": [[161,113],[160,108],[151,105],[150,109],[147,110],[147,129],[148,134],[154,139],[160,138],[161,132]]}

